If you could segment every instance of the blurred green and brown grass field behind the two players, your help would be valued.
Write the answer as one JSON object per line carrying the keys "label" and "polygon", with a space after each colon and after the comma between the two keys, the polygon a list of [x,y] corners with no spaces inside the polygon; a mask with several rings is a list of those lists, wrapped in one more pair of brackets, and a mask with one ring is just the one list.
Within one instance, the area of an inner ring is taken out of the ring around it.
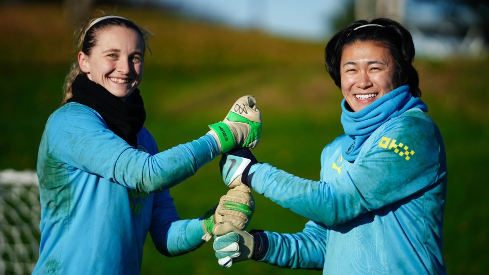
{"label": "blurred green and brown grass field behind the two players", "polygon": [[[253,94],[264,120],[254,150],[260,161],[297,176],[319,179],[322,148],[341,134],[338,88],[326,74],[325,43],[273,38],[155,10],[118,9],[147,27],[152,55],[140,86],[146,127],[160,150],[205,134],[234,100]],[[35,169],[48,116],[61,101],[61,86],[76,53],[73,25],[59,6],[0,4],[0,169]],[[448,161],[443,253],[449,274],[489,270],[489,89],[487,59],[417,59],[422,99],[438,124]],[[201,216],[225,193],[218,159],[171,190],[181,218]],[[249,228],[297,232],[307,221],[255,195]],[[156,252],[148,236],[142,274],[320,274],[249,261],[221,269],[210,243],[174,258]]]}

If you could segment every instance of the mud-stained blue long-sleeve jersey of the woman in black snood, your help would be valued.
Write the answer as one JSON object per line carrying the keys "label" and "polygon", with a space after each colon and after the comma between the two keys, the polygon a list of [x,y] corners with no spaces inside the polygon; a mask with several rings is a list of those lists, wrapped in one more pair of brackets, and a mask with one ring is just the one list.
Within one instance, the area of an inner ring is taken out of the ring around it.
{"label": "mud-stained blue long-sleeve jersey of the woman in black snood", "polygon": [[215,140],[205,135],[160,153],[146,128],[137,140],[130,146],[78,103],[50,116],[38,155],[34,274],[139,274],[148,231],[168,256],[203,243],[201,220],[180,220],[168,188],[215,157]]}

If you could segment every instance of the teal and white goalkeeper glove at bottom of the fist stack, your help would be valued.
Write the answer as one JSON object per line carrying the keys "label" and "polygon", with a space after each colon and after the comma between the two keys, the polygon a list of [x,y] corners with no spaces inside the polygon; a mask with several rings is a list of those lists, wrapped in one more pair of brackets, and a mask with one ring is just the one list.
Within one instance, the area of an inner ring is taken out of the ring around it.
{"label": "teal and white goalkeeper glove at bottom of the fist stack", "polygon": [[214,229],[215,257],[220,266],[227,268],[233,262],[261,260],[268,251],[268,237],[263,230],[243,231],[228,222]]}

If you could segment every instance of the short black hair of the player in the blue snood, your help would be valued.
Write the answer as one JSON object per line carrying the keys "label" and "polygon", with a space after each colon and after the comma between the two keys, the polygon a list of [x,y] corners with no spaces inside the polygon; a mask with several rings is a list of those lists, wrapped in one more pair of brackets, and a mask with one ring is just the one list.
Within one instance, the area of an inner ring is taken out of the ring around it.
{"label": "short black hair of the player in the blue snood", "polygon": [[[384,26],[365,26],[363,25]],[[358,29],[356,29],[358,28]],[[356,30],[355,30],[356,29]],[[371,41],[389,50],[395,60],[395,68],[400,85],[409,85],[414,97],[421,97],[418,72],[412,66],[414,43],[412,36],[400,23],[387,18],[377,18],[370,22],[359,20],[337,32],[326,45],[324,59],[326,70],[341,89],[340,61],[346,45]]]}

